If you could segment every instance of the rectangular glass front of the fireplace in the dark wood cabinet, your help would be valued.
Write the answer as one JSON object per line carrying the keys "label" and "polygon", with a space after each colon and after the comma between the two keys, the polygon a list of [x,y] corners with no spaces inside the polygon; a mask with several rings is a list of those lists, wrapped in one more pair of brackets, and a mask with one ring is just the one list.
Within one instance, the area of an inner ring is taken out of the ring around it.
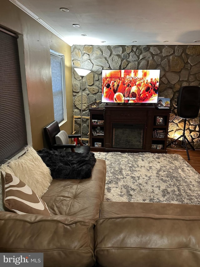
{"label": "rectangular glass front of the fireplace in the dark wood cabinet", "polygon": [[143,149],[145,124],[113,123],[112,147]]}

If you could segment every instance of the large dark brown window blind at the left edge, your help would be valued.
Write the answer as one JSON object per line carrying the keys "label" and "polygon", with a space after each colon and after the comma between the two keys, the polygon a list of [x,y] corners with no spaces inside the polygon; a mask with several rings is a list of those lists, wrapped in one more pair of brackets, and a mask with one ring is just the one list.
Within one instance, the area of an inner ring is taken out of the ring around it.
{"label": "large dark brown window blind at the left edge", "polygon": [[27,146],[17,38],[0,31],[0,164]]}

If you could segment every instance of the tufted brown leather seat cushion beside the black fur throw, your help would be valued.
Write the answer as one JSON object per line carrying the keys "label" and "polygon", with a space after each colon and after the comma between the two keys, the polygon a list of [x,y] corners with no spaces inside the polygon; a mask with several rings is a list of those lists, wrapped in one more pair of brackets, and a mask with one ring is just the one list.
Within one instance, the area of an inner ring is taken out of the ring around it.
{"label": "tufted brown leather seat cushion beside the black fur throw", "polygon": [[104,199],[106,162],[97,159],[92,176],[82,180],[53,179],[42,196],[51,214],[62,214],[96,220]]}

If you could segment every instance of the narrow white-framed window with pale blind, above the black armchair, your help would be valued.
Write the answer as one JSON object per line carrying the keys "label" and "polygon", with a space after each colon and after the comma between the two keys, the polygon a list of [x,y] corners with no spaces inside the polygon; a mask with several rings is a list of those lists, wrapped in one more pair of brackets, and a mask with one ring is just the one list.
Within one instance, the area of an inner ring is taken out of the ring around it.
{"label": "narrow white-framed window with pale blind, above the black armchair", "polygon": [[50,50],[54,120],[67,120],[64,55]]}

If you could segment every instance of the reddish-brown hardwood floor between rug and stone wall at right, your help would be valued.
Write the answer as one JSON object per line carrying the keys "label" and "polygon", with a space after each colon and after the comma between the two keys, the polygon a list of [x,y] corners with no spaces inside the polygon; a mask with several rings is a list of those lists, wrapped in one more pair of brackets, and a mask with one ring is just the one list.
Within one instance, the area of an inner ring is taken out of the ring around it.
{"label": "reddish-brown hardwood floor between rug and stone wall at right", "polygon": [[185,149],[167,148],[168,154],[179,154],[184,158],[198,173],[200,173],[200,150],[189,150],[190,160],[187,158]]}

